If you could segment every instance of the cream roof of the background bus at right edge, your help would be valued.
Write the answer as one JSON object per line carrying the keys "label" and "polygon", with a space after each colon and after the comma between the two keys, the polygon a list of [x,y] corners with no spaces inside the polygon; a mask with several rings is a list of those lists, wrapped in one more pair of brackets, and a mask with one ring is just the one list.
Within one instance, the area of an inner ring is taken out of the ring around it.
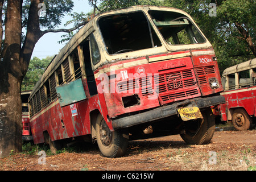
{"label": "cream roof of the background bus at right edge", "polygon": [[237,64],[237,65],[234,65],[233,67],[226,68],[224,70],[224,72],[222,73],[222,76],[245,71],[245,70],[251,69],[251,68],[256,68],[256,58],[251,59],[249,61],[245,61],[245,62]]}

